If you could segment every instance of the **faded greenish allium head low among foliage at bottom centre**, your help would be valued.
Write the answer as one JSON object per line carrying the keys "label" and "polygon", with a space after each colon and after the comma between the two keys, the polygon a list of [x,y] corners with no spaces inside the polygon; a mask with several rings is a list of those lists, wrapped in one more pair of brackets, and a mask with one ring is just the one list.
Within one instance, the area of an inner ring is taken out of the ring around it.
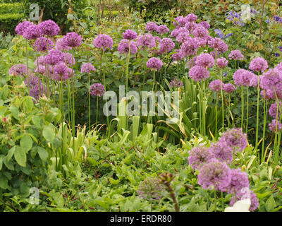
{"label": "faded greenish allium head low among foliage at bottom centre", "polygon": [[139,198],[144,198],[149,201],[159,200],[164,194],[165,188],[161,184],[160,179],[150,177],[140,183],[137,194]]}

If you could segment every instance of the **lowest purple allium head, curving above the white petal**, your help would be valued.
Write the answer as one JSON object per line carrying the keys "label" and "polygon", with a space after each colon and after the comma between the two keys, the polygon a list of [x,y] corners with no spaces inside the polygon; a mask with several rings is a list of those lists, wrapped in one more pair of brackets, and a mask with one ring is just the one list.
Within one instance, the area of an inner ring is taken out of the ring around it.
{"label": "lowest purple allium head, curving above the white petal", "polygon": [[259,207],[259,199],[257,198],[257,195],[255,194],[254,191],[250,191],[249,188],[243,188],[241,191],[236,192],[235,196],[233,196],[230,206],[233,206],[235,201],[240,201],[245,198],[250,198],[251,200],[251,206],[250,206],[250,211],[255,211]]}

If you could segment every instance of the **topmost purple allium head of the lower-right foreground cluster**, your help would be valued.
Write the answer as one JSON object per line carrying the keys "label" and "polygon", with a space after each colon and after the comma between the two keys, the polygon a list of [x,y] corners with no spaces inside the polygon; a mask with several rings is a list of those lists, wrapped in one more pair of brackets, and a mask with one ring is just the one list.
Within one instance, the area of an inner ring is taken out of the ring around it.
{"label": "topmost purple allium head of the lower-right foreground cluster", "polygon": [[241,128],[229,129],[223,133],[219,141],[231,147],[235,153],[242,152],[247,147],[247,135],[243,133]]}

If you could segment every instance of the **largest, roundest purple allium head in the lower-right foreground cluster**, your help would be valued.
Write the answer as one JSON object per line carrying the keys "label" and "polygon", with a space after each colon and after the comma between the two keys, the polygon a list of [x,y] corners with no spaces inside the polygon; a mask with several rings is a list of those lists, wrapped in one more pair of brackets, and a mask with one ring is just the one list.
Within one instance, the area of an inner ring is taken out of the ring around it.
{"label": "largest, roundest purple allium head in the lower-right foreground cluster", "polygon": [[217,191],[227,191],[231,182],[231,169],[225,162],[209,160],[200,169],[198,184],[204,189],[215,189]]}

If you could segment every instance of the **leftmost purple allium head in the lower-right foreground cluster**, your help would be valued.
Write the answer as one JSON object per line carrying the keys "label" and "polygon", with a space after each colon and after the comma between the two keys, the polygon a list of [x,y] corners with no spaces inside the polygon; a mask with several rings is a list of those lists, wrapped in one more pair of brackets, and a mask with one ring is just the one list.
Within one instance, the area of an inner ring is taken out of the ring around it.
{"label": "leftmost purple allium head in the lower-right foreground cluster", "polygon": [[189,151],[188,162],[192,169],[200,169],[204,163],[214,157],[214,154],[204,145],[192,148]]}

